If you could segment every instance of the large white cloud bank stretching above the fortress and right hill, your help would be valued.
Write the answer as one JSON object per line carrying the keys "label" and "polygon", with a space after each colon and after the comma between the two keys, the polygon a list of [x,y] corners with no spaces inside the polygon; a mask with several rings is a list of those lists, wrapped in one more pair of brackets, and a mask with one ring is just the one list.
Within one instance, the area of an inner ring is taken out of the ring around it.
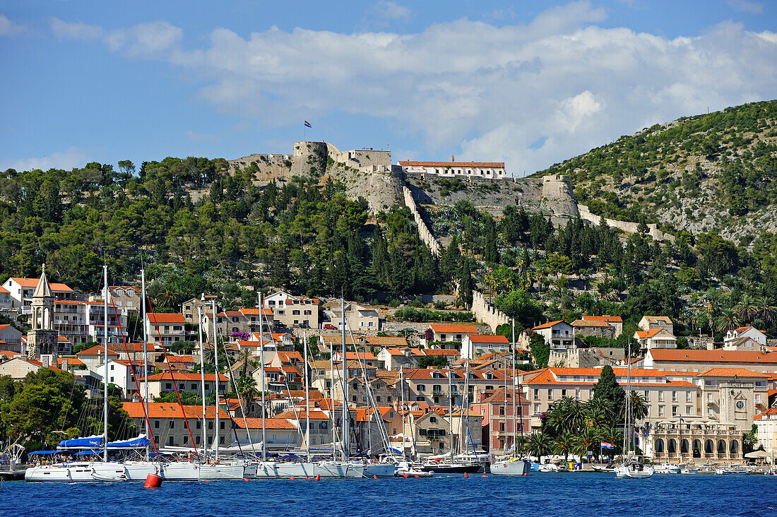
{"label": "large white cloud bank stretching above the fortress and right hill", "polygon": [[217,28],[198,49],[169,25],[145,43],[148,24],[68,30],[180,67],[204,83],[200,100],[244,120],[388,119],[419,135],[416,158],[505,160],[517,174],[651,124],[774,96],[775,33],[721,23],[669,39],[597,26],[605,16],[575,2],[525,25],[459,19],[410,34],[272,28],[244,38]]}

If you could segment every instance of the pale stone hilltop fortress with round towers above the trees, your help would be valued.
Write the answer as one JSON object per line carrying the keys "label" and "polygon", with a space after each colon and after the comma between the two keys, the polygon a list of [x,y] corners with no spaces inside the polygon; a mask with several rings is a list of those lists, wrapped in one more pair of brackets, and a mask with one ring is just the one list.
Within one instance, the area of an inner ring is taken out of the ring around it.
{"label": "pale stone hilltop fortress with round towers above the trees", "polygon": [[[229,166],[232,173],[238,167],[253,173],[257,184],[294,176],[330,176],[346,186],[348,197],[364,197],[373,213],[392,204],[409,206],[417,213],[416,204],[452,206],[463,199],[493,215],[516,204],[549,215],[557,224],[578,215],[592,224],[600,221],[586,206],[577,204],[569,176],[514,178],[507,176],[503,162],[456,162],[454,158],[451,162],[392,164],[389,150],[340,151],[329,142],[298,141],[291,155],[253,154],[230,160]],[[636,232],[636,223],[606,221],[625,232]],[[656,225],[648,227],[653,239],[671,239]]]}

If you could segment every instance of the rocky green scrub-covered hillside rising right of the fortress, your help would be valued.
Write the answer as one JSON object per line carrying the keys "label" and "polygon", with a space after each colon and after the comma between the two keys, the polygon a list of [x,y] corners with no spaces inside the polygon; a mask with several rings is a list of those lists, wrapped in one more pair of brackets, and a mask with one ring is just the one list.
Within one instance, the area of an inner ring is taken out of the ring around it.
{"label": "rocky green scrub-covered hillside rising right of the fortress", "polygon": [[777,230],[777,100],[656,124],[534,176],[567,174],[598,215],[747,245]]}

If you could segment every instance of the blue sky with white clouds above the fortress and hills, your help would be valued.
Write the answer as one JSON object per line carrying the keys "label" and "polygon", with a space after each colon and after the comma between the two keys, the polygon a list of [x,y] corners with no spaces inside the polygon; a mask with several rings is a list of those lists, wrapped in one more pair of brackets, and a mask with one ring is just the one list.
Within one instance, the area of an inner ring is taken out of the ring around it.
{"label": "blue sky with white clouds above the fortress and hills", "polygon": [[772,0],[0,0],[0,170],[308,139],[524,176],[775,68]]}

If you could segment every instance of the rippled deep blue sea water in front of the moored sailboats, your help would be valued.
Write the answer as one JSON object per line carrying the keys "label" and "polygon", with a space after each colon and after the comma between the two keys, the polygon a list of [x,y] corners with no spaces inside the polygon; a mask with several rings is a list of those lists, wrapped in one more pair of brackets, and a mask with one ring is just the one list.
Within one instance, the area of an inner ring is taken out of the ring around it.
{"label": "rippled deep blue sea water in front of the moored sailboats", "polygon": [[0,515],[777,515],[777,477],[604,473],[431,479],[31,484],[6,482]]}

